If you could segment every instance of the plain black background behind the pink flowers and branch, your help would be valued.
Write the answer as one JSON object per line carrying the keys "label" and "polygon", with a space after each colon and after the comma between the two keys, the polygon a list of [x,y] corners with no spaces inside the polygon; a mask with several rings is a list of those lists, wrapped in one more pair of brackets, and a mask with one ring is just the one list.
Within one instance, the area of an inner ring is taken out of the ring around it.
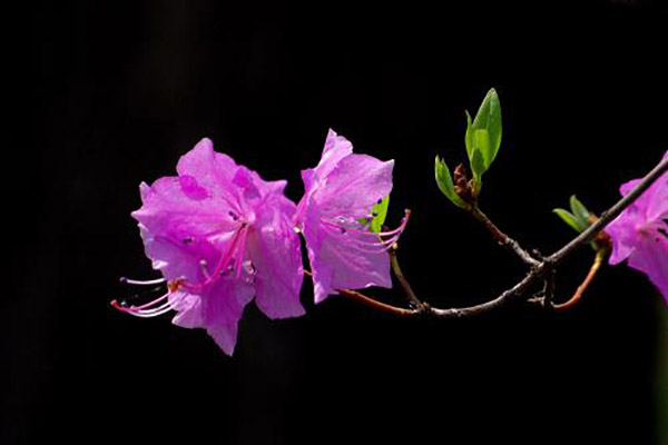
{"label": "plain black background behind the pink flowers and branch", "polygon": [[[552,208],[577,192],[603,210],[666,150],[661,3],[439,8],[35,6],[29,167],[14,182],[21,231],[9,236],[20,249],[2,297],[2,443],[652,443],[666,309],[623,266],[556,317],[515,307],[404,320],[344,298],[314,306],[305,284],[305,317],[248,306],[233,358],[202,330],[109,307],[127,293],[119,276],[151,276],[129,216],[137,186],[171,175],[205,136],[287,179],[294,200],[330,127],[395,159],[390,221],[405,207],[414,216],[404,271],[442,307],[489,299],[524,273],[433,180],[436,154],[463,159],[464,110],[489,88],[504,134],[482,207],[543,253],[573,235]],[[560,269],[559,298],[590,257]],[[371,294],[402,303],[397,290]]]}

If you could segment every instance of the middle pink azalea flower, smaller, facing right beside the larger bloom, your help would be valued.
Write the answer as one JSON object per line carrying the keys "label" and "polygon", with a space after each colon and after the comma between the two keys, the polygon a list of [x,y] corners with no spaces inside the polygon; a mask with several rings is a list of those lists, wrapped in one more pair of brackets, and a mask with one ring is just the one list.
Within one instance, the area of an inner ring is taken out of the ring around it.
{"label": "middle pink azalea flower, smaller, facing right beside the larger bloom", "polygon": [[375,234],[372,208],[392,190],[394,161],[354,155],[352,144],[330,130],[317,167],[302,171],[304,197],[296,225],[306,238],[315,301],[337,289],[392,287],[387,249],[406,224]]}

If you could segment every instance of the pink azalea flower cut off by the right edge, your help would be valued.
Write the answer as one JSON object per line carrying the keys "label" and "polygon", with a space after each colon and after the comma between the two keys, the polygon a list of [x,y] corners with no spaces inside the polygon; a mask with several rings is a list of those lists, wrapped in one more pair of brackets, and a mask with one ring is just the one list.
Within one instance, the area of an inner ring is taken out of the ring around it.
{"label": "pink azalea flower cut off by the right edge", "polygon": [[[668,151],[664,154],[666,158]],[[622,185],[621,195],[627,195],[638,182],[640,179]],[[610,222],[606,231],[612,238],[610,264],[628,259],[628,265],[644,271],[668,303],[668,172]]]}

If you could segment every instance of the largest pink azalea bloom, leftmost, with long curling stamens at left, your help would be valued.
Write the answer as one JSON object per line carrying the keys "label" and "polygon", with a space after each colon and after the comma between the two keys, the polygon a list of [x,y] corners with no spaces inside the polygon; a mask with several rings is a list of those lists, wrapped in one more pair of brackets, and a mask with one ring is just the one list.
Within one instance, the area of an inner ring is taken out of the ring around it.
{"label": "largest pink azalea bloom, leftmost, with long curling stamens at left", "polygon": [[264,181],[203,139],[177,165],[178,176],[140,185],[139,221],[146,255],[168,291],[140,306],[114,305],[138,317],[170,310],[181,327],[204,328],[232,355],[244,307],[255,297],[269,318],[304,314],[296,209],[286,181]]}

